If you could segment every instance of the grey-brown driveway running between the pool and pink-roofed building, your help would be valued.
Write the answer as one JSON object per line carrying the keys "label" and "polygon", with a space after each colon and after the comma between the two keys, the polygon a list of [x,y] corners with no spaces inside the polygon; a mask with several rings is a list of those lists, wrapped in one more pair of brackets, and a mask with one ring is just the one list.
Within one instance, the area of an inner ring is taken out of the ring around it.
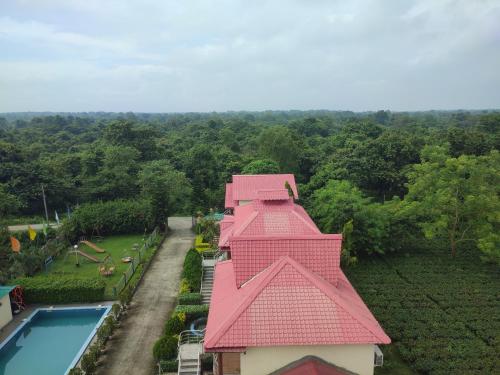
{"label": "grey-brown driveway running between the pool and pink-roofed building", "polygon": [[139,285],[121,328],[110,341],[100,375],[151,375],[153,344],[175,306],[182,263],[192,245],[191,218],[169,219],[171,234]]}

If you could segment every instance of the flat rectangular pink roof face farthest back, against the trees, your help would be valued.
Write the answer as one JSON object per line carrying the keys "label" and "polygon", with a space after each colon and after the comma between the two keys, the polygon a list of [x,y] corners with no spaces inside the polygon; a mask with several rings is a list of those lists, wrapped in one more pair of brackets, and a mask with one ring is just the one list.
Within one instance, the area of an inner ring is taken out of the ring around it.
{"label": "flat rectangular pink roof face farthest back, against the trees", "polygon": [[258,198],[257,192],[259,190],[285,189],[286,182],[290,184],[293,195],[297,199],[299,194],[293,174],[234,175],[231,187],[232,199],[233,201],[254,200]]}

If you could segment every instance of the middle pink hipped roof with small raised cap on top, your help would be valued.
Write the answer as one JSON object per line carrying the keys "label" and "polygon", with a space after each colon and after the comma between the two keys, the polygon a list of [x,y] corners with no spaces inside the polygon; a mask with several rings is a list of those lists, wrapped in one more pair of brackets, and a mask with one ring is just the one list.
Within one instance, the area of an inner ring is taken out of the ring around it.
{"label": "middle pink hipped roof with small raised cap on top", "polygon": [[222,230],[219,247],[227,248],[232,236],[320,234],[307,212],[292,199],[256,200],[234,209],[234,225]]}

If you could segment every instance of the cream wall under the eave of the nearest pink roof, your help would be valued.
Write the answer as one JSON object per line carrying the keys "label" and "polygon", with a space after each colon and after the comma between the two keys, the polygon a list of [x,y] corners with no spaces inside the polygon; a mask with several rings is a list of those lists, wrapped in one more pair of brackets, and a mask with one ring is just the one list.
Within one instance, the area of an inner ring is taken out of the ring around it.
{"label": "cream wall under the eave of the nearest pink roof", "polygon": [[373,345],[313,345],[248,348],[241,375],[266,375],[313,355],[359,375],[373,375]]}

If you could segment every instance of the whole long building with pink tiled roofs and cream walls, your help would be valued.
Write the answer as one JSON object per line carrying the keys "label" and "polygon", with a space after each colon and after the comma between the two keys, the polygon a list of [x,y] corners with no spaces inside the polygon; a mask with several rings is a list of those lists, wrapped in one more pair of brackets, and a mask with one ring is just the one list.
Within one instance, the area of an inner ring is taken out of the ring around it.
{"label": "whole long building with pink tiled roofs and cream walls", "polygon": [[[286,187],[285,187],[286,185]],[[214,374],[373,374],[389,344],[340,268],[293,175],[233,176],[204,339]]]}

